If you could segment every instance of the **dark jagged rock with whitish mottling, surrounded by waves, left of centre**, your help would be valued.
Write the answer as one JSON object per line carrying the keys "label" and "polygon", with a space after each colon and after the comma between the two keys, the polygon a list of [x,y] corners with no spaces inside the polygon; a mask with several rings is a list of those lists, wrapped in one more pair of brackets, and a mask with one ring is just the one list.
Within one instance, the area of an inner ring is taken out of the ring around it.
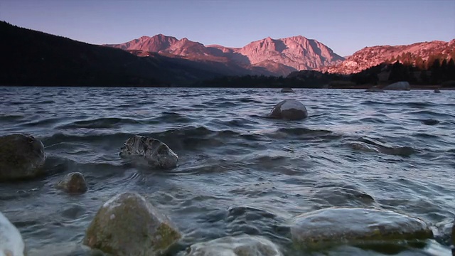
{"label": "dark jagged rock with whitish mottling, surrounded by waves, left of centre", "polygon": [[120,150],[120,157],[131,159],[139,165],[159,169],[172,169],[177,166],[177,154],[158,139],[135,135],[127,139]]}

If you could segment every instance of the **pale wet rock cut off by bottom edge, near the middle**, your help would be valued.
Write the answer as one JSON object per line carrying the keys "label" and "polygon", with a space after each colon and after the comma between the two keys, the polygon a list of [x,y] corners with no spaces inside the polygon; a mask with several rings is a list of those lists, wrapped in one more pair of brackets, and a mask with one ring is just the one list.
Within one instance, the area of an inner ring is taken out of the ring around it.
{"label": "pale wet rock cut off by bottom edge, near the middle", "polygon": [[253,235],[225,237],[191,245],[187,256],[281,256],[277,245]]}

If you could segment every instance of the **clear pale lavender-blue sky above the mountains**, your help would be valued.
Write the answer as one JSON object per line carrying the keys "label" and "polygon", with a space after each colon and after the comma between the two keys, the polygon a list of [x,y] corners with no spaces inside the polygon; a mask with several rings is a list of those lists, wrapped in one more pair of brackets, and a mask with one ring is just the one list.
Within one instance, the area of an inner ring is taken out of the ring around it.
{"label": "clear pale lavender-blue sky above the mountains", "polygon": [[0,0],[0,20],[94,44],[163,33],[242,47],[299,35],[350,55],[454,39],[455,0]]}

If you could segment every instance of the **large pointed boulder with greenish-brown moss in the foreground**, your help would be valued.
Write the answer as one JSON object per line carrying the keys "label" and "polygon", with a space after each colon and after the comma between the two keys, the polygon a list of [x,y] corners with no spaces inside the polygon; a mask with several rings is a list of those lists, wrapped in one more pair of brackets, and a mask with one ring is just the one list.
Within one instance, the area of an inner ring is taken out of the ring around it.
{"label": "large pointed boulder with greenish-brown moss in the foreground", "polygon": [[181,238],[168,218],[137,193],[121,193],[98,210],[84,245],[118,256],[161,255]]}

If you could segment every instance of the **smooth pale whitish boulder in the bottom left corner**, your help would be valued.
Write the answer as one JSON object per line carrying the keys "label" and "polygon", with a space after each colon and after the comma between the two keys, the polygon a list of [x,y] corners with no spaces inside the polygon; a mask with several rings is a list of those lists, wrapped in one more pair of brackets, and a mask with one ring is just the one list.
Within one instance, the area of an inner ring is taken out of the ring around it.
{"label": "smooth pale whitish boulder in the bottom left corner", "polygon": [[0,213],[0,256],[23,256],[21,233]]}

